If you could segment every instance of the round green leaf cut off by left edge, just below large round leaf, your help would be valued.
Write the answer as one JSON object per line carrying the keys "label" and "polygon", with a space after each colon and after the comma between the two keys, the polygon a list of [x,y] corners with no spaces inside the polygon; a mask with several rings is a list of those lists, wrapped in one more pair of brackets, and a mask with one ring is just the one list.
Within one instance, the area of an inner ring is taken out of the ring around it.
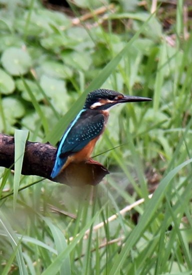
{"label": "round green leaf cut off by left edge, just below large round leaf", "polygon": [[8,94],[14,90],[12,77],[4,70],[0,69],[0,93]]}

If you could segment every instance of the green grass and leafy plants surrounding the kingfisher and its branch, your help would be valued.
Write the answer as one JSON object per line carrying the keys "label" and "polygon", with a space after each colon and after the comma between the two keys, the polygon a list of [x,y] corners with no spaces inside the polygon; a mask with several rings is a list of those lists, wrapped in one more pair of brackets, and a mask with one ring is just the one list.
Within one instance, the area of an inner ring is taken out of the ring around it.
{"label": "green grass and leafy plants surrounding the kingfisher and its branch", "polygon": [[[1,274],[191,273],[191,6],[154,2],[74,1],[67,15],[0,0],[0,132],[17,163],[0,169]],[[110,111],[94,150],[105,180],[20,175],[27,133],[56,144],[98,87],[152,97]]]}

